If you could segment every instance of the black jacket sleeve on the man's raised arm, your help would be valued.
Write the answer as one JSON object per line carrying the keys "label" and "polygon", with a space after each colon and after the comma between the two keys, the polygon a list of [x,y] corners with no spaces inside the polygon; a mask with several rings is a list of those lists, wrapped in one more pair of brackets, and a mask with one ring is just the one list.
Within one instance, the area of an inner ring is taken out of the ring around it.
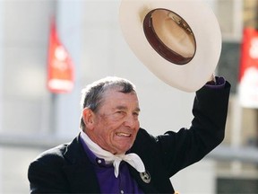
{"label": "black jacket sleeve on the man's raised arm", "polygon": [[168,131],[157,143],[168,170],[168,176],[200,161],[219,145],[225,133],[230,84],[214,89],[203,86],[193,101],[193,121],[190,128]]}

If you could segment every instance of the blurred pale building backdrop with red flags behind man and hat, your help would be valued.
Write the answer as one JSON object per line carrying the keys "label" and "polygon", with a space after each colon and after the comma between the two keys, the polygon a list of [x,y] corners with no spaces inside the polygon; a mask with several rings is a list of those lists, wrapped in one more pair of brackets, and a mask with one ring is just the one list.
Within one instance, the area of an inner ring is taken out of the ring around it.
{"label": "blurred pale building backdrop with red flags behind man and hat", "polygon": [[[216,74],[232,84],[227,132],[171,181],[184,194],[258,193],[258,1],[204,2],[222,31]],[[136,84],[141,126],[151,134],[190,125],[194,93],[164,84],[133,55],[120,31],[119,4],[0,1],[0,193],[30,192],[30,162],[77,136],[82,87],[104,76]]]}

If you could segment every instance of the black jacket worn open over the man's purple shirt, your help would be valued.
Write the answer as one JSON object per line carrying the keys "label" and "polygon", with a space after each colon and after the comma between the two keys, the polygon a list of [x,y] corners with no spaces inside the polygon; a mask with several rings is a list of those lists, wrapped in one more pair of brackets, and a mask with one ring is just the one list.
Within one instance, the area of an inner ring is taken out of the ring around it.
{"label": "black jacket worn open over the man's purple shirt", "polygon": [[[204,86],[197,91],[194,118],[188,129],[152,137],[140,128],[131,152],[142,158],[150,173],[150,183],[142,181],[139,172],[129,164],[128,167],[144,193],[174,193],[169,178],[219,145],[224,138],[229,90],[230,84],[226,83],[223,89]],[[97,176],[79,136],[72,143],[40,154],[30,163],[28,176],[31,193],[100,193]]]}

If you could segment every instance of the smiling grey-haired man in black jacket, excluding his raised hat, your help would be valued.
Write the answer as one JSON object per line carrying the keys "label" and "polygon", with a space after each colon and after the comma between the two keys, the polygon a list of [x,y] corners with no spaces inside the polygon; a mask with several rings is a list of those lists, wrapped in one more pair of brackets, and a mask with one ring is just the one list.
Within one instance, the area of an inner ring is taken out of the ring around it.
{"label": "smiling grey-haired man in black jacket, excluding his raised hat", "polygon": [[88,85],[81,133],[30,163],[30,192],[174,193],[169,178],[224,138],[230,84],[222,77],[214,81],[196,92],[191,127],[158,137],[140,128],[139,102],[128,80],[107,77]]}

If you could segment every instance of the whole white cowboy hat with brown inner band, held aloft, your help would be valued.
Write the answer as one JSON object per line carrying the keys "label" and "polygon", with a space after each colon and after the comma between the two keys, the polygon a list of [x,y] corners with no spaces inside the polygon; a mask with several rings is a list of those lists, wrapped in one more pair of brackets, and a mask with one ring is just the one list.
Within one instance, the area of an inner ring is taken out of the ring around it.
{"label": "whole white cowboy hat with brown inner band, held aloft", "polygon": [[119,22],[143,65],[179,90],[199,90],[216,69],[219,23],[200,0],[122,0]]}

